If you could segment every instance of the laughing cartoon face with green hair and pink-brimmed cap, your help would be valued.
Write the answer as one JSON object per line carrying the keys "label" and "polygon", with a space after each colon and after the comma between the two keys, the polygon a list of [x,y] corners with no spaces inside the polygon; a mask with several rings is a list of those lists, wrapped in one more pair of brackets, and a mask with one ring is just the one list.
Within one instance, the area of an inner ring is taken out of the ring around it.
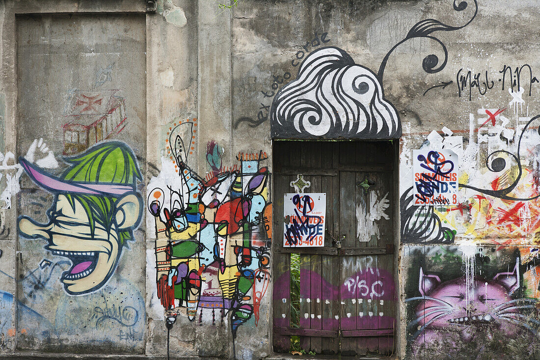
{"label": "laughing cartoon face with green hair and pink-brimmed cap", "polygon": [[19,234],[44,239],[45,249],[70,259],[71,268],[60,278],[68,294],[102,288],[142,215],[143,201],[135,187],[141,176],[131,149],[119,142],[93,146],[66,159],[71,168],[59,178],[22,157],[19,162],[37,185],[56,194],[49,222],[21,216]]}

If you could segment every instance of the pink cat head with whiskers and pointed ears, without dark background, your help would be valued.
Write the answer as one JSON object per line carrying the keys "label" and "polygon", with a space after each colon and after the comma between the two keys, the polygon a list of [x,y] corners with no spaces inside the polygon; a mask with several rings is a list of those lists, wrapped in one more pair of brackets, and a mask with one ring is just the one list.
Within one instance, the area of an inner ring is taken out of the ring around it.
{"label": "pink cat head with whiskers and pointed ears, without dark background", "polygon": [[[436,275],[424,274],[420,269],[421,297],[416,307],[416,318],[408,324],[413,348],[424,343],[442,341],[470,342],[477,332],[492,338],[494,332],[515,337],[527,329],[536,335],[531,323],[538,323],[522,311],[535,309],[536,299],[512,298],[519,288],[519,258],[511,272],[500,272],[491,280],[474,279],[465,284],[463,278],[444,283]],[[415,331],[416,330],[416,331]]]}

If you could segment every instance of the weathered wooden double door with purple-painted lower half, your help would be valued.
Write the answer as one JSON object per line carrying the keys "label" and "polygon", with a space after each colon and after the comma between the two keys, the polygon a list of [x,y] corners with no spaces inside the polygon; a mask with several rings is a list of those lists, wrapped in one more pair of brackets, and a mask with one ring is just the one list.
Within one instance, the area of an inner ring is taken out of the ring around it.
{"label": "weathered wooden double door with purple-painted lower half", "polygon": [[[274,141],[274,351],[390,354],[394,348],[395,144]],[[323,247],[284,247],[297,175],[326,193]],[[339,244],[338,244],[339,242]],[[299,344],[298,344],[299,339]],[[299,346],[298,346],[299,345]]]}

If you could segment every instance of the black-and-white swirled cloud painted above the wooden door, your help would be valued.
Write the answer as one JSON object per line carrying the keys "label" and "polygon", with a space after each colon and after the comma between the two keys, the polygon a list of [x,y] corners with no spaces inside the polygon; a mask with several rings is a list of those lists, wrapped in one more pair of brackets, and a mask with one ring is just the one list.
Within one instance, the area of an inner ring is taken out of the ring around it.
{"label": "black-and-white swirled cloud painted above the wooden door", "polygon": [[272,137],[401,136],[396,109],[376,75],[332,46],[306,57],[296,79],[275,95],[270,113]]}

